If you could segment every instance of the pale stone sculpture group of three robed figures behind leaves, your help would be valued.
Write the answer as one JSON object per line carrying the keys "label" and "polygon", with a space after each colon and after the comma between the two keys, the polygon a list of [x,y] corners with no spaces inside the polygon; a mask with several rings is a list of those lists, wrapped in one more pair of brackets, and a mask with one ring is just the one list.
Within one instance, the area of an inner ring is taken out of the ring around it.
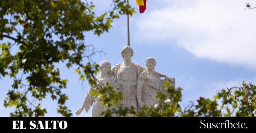
{"label": "pale stone sculpture group of three robed figures behind leaves", "polygon": [[[158,102],[156,98],[157,92],[163,92],[160,77],[165,77],[166,80],[175,84],[175,78],[154,70],[156,66],[154,58],[147,58],[145,62],[147,68],[144,68],[131,61],[134,51],[130,46],[123,47],[121,55],[124,62],[113,67],[111,67],[110,62],[102,61],[99,65],[100,75],[96,77],[97,85],[104,87],[108,82],[117,91],[122,92],[123,99],[119,101],[119,105],[124,107],[133,106],[135,111],[140,110],[144,105],[151,107]],[[105,105],[101,103],[99,96],[90,96],[92,90],[93,87],[90,86],[76,115],[79,115],[84,109],[88,113],[94,103],[92,117],[103,117],[101,113],[106,110]]]}

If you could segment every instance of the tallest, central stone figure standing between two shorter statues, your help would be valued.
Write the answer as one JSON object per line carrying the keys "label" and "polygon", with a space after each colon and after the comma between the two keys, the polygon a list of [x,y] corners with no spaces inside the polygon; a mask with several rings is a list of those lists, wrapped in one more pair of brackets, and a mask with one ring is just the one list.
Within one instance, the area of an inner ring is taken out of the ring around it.
{"label": "tallest, central stone figure standing between two shorter statues", "polygon": [[[120,90],[123,94],[123,99],[119,104],[125,107],[133,106],[135,111],[137,111],[137,80],[140,73],[146,69],[139,64],[131,62],[131,57],[134,55],[134,51],[130,46],[123,47],[121,55],[124,62],[116,64],[111,68],[111,71],[117,80],[116,89]],[[166,79],[173,80],[167,75],[163,75],[159,72],[155,73],[159,77],[165,77]]]}

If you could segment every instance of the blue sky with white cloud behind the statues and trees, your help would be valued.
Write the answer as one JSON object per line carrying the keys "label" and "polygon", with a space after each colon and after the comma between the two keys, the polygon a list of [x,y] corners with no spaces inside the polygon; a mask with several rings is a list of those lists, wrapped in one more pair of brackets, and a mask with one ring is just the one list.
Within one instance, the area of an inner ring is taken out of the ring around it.
{"label": "blue sky with white cloud behind the statues and trees", "polygon": [[[212,98],[222,88],[240,87],[242,81],[256,84],[256,10],[244,10],[245,3],[256,6],[255,0],[147,0],[145,13],[140,14],[135,0],[129,0],[136,13],[130,17],[132,61],[145,67],[145,59],[157,61],[156,71],[176,79],[183,89],[181,106],[200,96]],[[111,0],[93,0],[97,14],[108,10]],[[87,33],[85,41],[106,55],[94,55],[93,61],[111,65],[123,61],[120,54],[127,45],[126,16],[114,20],[108,33],[100,37]],[[9,40],[0,40],[0,43]],[[86,63],[86,61],[84,61]],[[75,68],[60,68],[61,78],[68,79],[67,107],[74,117],[90,117],[85,111],[76,116],[87,93]],[[0,117],[8,117],[13,108],[3,107],[12,79],[0,79]],[[42,101],[46,117],[60,117],[57,101]]]}

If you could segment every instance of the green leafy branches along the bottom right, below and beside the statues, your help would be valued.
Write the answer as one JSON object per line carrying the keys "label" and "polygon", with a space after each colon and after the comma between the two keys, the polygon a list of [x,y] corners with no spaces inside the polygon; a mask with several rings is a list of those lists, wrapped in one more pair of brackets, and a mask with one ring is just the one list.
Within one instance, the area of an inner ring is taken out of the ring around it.
{"label": "green leafy branches along the bottom right, below and beside the statues", "polygon": [[[140,111],[135,112],[134,107],[111,106],[120,100],[116,98],[113,89],[112,93],[102,93],[102,102],[108,105],[108,110],[102,115],[112,116],[134,116],[134,117],[255,117],[256,114],[256,86],[243,82],[242,87],[232,87],[222,89],[214,99],[200,97],[197,103],[191,102],[184,109],[180,107],[182,98],[181,88],[172,88],[168,81],[164,84],[165,94],[157,93],[159,102],[154,107],[143,107]],[[105,92],[108,90],[104,88]],[[97,91],[96,91],[97,92]],[[93,93],[92,95],[98,95]],[[122,96],[122,95],[121,95]],[[106,100],[106,99],[108,100]]]}

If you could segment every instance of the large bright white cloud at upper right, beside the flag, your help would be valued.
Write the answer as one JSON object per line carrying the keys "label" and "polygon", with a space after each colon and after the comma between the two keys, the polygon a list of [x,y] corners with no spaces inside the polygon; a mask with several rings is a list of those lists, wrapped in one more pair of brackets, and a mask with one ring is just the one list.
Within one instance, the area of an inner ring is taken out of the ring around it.
{"label": "large bright white cloud at upper right, beside the flag", "polygon": [[256,1],[181,1],[164,0],[165,6],[140,15],[134,38],[175,41],[200,58],[256,67],[256,10],[244,11],[246,2]]}

